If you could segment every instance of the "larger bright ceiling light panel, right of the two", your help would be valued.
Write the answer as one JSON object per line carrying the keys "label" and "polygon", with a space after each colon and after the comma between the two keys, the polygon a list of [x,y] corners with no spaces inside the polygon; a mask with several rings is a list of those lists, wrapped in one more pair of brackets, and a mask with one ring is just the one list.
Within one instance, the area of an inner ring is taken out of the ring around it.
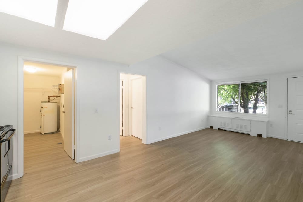
{"label": "larger bright ceiling light panel, right of the two", "polygon": [[69,0],[63,29],[106,40],[147,1]]}

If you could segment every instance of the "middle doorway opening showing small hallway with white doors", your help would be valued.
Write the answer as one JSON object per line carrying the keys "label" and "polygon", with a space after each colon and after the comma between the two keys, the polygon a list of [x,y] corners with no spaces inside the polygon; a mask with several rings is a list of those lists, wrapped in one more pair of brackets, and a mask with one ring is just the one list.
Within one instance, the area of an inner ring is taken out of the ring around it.
{"label": "middle doorway opening showing small hallway with white doors", "polygon": [[120,140],[132,136],[146,144],[146,77],[120,73]]}

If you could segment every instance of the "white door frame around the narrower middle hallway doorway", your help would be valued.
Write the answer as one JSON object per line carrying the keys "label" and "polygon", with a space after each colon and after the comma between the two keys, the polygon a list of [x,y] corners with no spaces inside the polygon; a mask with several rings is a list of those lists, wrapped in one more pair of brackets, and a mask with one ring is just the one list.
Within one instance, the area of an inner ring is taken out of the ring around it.
{"label": "white door frame around the narrower middle hallway doorway", "polygon": [[[120,74],[130,74],[130,75],[139,75],[139,76],[143,76],[145,77],[145,86],[143,87],[145,89],[145,92],[144,92],[144,101],[143,101],[143,104],[144,104],[144,111],[143,111],[143,134],[142,134],[142,143],[143,144],[147,144],[148,143],[148,134],[147,134],[147,91],[148,91],[148,86],[147,86],[147,76],[146,75],[143,75],[143,74],[138,74],[138,73],[133,73],[133,72],[127,72],[127,71],[121,71],[121,70],[118,70],[118,73],[117,73],[117,95],[118,95],[118,103],[117,103],[117,114],[118,114],[118,120],[117,120],[117,128],[118,130],[120,130]],[[118,134],[119,135],[119,134]],[[120,136],[120,135],[119,135]],[[120,137],[118,139],[118,151],[120,151]]]}

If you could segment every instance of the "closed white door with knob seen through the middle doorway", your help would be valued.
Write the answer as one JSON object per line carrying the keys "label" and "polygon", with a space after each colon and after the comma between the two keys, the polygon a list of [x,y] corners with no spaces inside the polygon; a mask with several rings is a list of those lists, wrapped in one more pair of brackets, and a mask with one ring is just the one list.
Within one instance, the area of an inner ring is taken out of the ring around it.
{"label": "closed white door with knob seen through the middle doorway", "polygon": [[132,135],[142,139],[143,133],[143,78],[132,82]]}

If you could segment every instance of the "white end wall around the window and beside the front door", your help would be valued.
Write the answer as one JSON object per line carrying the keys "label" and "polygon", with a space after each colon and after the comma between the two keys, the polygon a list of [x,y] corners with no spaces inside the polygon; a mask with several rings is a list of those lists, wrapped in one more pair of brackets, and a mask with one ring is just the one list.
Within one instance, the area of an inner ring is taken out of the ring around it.
{"label": "white end wall around the window and beside the front door", "polygon": [[[241,114],[241,117],[255,117],[259,119],[268,118],[269,127],[268,136],[280,139],[287,137],[287,77],[303,76],[303,71],[289,72],[284,74],[262,75],[258,77],[232,78],[227,80],[216,80],[211,82],[211,114],[220,114],[225,116],[237,116],[231,113],[216,112],[216,83],[224,81],[243,81],[252,79],[268,78],[268,117],[257,114]],[[282,105],[282,108],[278,106]]]}

